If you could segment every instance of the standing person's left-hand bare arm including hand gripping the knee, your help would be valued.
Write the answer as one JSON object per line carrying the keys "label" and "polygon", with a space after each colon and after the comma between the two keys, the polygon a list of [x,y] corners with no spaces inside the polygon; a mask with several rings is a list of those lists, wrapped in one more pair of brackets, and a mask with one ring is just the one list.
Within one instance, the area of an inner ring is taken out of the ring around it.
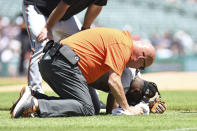
{"label": "standing person's left-hand bare arm including hand gripping the knee", "polygon": [[47,38],[52,39],[52,28],[64,16],[69,7],[70,5],[66,4],[63,0],[59,2],[57,7],[49,15],[46,25],[41,30],[40,34],[37,36],[37,40],[39,42],[42,42]]}

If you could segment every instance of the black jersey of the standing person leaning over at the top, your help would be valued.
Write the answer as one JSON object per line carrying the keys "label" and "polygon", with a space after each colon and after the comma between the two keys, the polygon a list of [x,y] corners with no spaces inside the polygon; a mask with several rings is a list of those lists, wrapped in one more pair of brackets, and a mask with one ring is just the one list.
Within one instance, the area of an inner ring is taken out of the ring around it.
{"label": "black jersey of the standing person leaning over at the top", "polygon": [[[61,0],[24,0],[24,4],[35,5],[44,16],[48,17],[60,1]],[[91,4],[98,6],[104,6],[107,4],[107,0],[63,0],[63,2],[70,5],[70,7],[62,17],[62,20],[69,19]]]}

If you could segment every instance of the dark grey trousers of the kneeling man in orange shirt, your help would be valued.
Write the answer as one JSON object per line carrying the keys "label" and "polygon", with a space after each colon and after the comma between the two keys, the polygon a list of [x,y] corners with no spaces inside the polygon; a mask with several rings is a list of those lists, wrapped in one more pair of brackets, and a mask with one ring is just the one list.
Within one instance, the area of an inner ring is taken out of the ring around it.
{"label": "dark grey trousers of the kneeling man in orange shirt", "polygon": [[70,64],[62,55],[53,59],[45,55],[39,63],[43,80],[60,97],[38,99],[40,117],[94,115],[89,89],[81,70]]}

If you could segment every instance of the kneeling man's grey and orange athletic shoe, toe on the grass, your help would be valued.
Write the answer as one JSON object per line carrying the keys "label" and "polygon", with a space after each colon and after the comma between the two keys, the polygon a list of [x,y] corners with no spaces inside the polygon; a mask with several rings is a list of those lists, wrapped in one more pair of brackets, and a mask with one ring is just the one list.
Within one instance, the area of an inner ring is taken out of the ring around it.
{"label": "kneeling man's grey and orange athletic shoe, toe on the grass", "polygon": [[31,89],[26,86],[22,97],[13,109],[11,118],[33,117],[33,114],[36,113],[33,99],[34,97],[31,95]]}

